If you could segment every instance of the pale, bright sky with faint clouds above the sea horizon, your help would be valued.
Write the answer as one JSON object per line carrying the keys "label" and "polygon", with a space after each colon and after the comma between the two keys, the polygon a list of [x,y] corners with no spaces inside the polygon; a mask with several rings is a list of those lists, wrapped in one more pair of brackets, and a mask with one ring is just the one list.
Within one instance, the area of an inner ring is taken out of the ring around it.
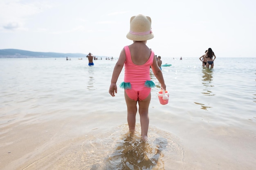
{"label": "pale, bright sky with faint clouds above the sea horizon", "polygon": [[256,57],[255,0],[0,0],[0,49],[119,57],[130,18],[152,20],[164,57]]}

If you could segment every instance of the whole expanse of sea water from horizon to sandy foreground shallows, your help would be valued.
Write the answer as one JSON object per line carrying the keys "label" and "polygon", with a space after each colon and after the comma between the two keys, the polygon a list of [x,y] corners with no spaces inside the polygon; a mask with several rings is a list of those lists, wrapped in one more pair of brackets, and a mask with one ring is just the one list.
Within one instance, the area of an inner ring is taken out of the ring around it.
{"label": "whole expanse of sea water from horizon to sandy foreground shallows", "polygon": [[170,96],[150,71],[147,142],[139,113],[128,133],[124,90],[108,93],[116,61],[1,58],[0,169],[256,169],[256,58],[162,57]]}

